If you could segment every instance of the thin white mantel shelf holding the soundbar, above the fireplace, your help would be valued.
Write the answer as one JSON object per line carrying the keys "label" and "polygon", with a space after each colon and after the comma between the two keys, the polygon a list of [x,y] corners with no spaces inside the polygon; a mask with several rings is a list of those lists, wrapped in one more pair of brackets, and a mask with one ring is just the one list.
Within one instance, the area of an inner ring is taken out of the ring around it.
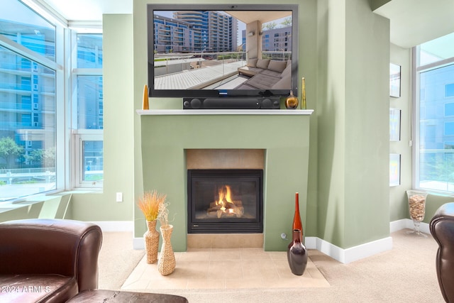
{"label": "thin white mantel shelf holding the soundbar, above the fireplace", "polygon": [[311,115],[314,109],[138,109],[143,115]]}

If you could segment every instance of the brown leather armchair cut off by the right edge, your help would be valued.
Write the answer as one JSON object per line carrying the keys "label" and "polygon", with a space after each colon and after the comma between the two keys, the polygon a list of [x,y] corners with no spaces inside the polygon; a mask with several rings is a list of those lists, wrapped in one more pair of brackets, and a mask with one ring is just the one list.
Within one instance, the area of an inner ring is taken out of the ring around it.
{"label": "brown leather armchair cut off by the right edge", "polygon": [[446,302],[454,302],[454,203],[440,206],[429,228],[438,243],[436,270],[441,294]]}

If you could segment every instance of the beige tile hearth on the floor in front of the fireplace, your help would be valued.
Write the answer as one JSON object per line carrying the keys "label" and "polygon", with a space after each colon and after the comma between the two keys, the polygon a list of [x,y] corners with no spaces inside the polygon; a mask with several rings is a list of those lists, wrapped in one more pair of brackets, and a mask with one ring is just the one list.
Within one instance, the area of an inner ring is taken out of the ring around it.
{"label": "beige tile hearth on the floor in front of the fireplace", "polygon": [[304,275],[293,275],[286,252],[262,248],[188,248],[175,253],[177,267],[162,276],[157,263],[146,256],[126,279],[121,290],[235,289],[329,287],[328,281],[309,260]]}

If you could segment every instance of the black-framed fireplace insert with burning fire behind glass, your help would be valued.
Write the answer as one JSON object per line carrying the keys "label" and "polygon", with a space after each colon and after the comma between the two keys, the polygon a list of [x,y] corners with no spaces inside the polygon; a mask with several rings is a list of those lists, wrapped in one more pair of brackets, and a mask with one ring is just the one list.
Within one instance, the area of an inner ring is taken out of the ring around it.
{"label": "black-framed fireplace insert with burning fire behind glass", "polygon": [[188,233],[262,233],[263,170],[187,170]]}

